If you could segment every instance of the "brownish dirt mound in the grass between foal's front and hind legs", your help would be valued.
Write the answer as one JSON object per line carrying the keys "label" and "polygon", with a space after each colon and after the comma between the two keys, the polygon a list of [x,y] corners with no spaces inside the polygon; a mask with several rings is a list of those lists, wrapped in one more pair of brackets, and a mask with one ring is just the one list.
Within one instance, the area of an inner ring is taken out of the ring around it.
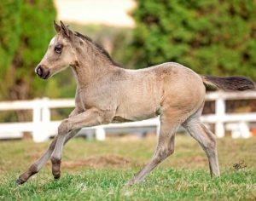
{"label": "brownish dirt mound in the grass between foal's front and hind legs", "polygon": [[124,158],[119,155],[104,155],[104,156],[94,156],[90,158],[84,158],[80,161],[63,161],[61,166],[68,169],[80,168],[80,167],[90,167],[90,168],[115,168],[115,167],[131,167],[136,166],[131,162],[131,160]]}

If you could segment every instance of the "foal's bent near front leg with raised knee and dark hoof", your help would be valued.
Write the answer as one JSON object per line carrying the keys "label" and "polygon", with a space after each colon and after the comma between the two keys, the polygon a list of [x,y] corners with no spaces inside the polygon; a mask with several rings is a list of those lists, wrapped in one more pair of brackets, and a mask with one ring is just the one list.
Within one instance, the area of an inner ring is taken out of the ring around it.
{"label": "foal's bent near front leg with raised knee and dark hoof", "polygon": [[74,129],[81,129],[83,127],[96,126],[101,123],[108,123],[108,119],[106,119],[107,117],[108,115],[102,112],[102,110],[92,108],[61,122],[61,125],[58,128],[58,137],[56,140],[55,149],[50,158],[52,162],[52,174],[54,175],[55,179],[58,179],[61,176],[61,152],[67,134],[72,132]]}

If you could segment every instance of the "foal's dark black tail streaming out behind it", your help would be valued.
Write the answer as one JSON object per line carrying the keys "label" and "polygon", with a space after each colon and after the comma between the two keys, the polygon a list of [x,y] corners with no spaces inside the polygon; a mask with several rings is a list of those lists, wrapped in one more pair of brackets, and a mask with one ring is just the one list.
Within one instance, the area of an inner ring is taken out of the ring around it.
{"label": "foal's dark black tail streaming out behind it", "polygon": [[245,77],[216,77],[216,76],[201,76],[203,83],[213,85],[224,90],[243,91],[247,89],[256,89],[256,84],[252,80]]}

